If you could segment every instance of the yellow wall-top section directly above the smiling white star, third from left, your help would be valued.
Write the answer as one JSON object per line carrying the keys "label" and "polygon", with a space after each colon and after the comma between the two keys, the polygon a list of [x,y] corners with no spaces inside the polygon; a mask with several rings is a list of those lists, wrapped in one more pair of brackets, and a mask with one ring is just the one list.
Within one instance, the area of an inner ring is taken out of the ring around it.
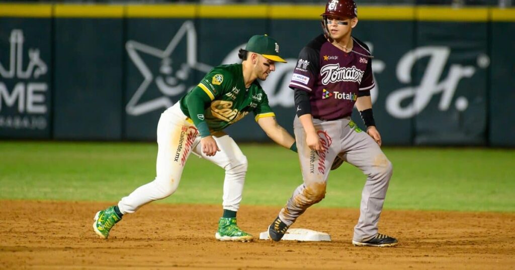
{"label": "yellow wall-top section directly above the smiling white star, third from left", "polygon": [[128,5],[127,17],[194,18],[196,5]]}

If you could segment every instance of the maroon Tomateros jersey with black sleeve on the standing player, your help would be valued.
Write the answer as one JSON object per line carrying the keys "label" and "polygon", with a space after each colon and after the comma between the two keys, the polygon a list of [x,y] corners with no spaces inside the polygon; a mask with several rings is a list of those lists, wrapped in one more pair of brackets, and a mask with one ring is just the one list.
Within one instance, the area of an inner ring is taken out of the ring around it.
{"label": "maroon Tomateros jersey with black sleeve on the standing player", "polygon": [[370,91],[375,85],[370,51],[365,43],[352,39],[353,51],[349,53],[323,35],[299,53],[289,87],[310,93],[313,118],[335,120],[350,116],[360,93]]}

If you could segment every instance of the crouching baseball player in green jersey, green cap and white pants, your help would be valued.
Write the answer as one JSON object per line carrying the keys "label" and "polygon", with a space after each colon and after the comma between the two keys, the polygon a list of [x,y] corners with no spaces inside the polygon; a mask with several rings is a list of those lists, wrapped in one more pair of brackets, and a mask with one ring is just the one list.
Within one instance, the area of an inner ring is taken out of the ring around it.
{"label": "crouching baseball player in green jersey, green cap and white pants", "polygon": [[104,239],[127,213],[152,201],[164,199],[177,189],[188,156],[194,154],[225,169],[223,208],[215,238],[220,241],[252,241],[249,233],[236,224],[242,200],[247,158],[234,140],[224,133],[229,125],[249,113],[265,133],[279,145],[297,151],[295,139],[276,121],[268,98],[256,79],[266,80],[276,69],[279,45],[267,35],[254,35],[239,51],[241,64],[213,68],[179,102],[159,119],[156,178],[143,185],[117,205],[98,211],[93,229]]}

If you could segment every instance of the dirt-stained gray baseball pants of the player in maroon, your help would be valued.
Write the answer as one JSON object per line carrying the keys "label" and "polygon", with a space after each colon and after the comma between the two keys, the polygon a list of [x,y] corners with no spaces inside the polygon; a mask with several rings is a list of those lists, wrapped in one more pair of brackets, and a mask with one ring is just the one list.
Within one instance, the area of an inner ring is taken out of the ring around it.
{"label": "dirt-stained gray baseball pants of the player in maroon", "polygon": [[318,152],[306,145],[306,133],[298,117],[295,117],[294,131],[304,183],[297,187],[286,206],[281,209],[279,218],[289,226],[308,207],[325,197],[331,165],[338,155],[367,175],[353,240],[368,241],[377,233],[392,165],[379,145],[366,132],[357,128],[350,117],[333,121],[313,119],[313,124],[322,145]]}

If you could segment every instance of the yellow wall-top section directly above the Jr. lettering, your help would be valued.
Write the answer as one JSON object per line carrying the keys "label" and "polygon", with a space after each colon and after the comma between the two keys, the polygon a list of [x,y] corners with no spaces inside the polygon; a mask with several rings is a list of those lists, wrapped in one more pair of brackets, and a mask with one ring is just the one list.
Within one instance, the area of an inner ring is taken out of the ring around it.
{"label": "yellow wall-top section directly above the Jr. lettering", "polygon": [[487,8],[419,7],[418,21],[487,22]]}

